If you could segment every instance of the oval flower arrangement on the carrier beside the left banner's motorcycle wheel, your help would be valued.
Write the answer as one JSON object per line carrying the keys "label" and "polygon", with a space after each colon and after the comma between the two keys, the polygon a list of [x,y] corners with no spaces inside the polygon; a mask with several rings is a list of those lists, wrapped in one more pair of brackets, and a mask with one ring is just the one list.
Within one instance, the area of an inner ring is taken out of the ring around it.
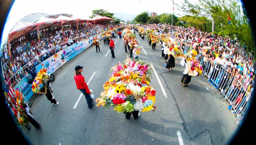
{"label": "oval flower arrangement on the carrier beside the left banner's motorcycle wheel", "polygon": [[47,69],[45,68],[41,69],[40,72],[37,73],[37,76],[32,83],[32,91],[37,94],[42,92],[41,89],[43,89],[43,87],[47,84],[48,80],[49,80],[49,75],[47,73]]}

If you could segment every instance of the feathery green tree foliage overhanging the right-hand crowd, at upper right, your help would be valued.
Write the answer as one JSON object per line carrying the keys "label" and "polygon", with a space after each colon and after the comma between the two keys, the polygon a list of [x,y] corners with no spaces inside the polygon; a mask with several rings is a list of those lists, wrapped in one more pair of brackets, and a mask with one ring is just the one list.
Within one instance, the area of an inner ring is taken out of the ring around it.
{"label": "feathery green tree foliage overhanging the right-hand crowd, at upper right", "polygon": [[[238,42],[242,45],[246,44],[247,51],[255,51],[252,38],[252,30],[250,22],[244,8],[241,8],[238,0],[197,0],[195,4],[191,4],[188,0],[184,0],[182,11],[191,14],[192,17],[183,19],[195,24],[195,27],[209,31],[210,25],[208,20],[215,20],[215,32],[220,35],[229,35],[231,39],[237,37]],[[241,11],[241,9],[243,11]],[[207,19],[205,19],[207,18]],[[230,18],[230,22],[228,19]],[[192,21],[195,19],[195,21]],[[196,23],[196,20],[202,20],[202,23]]]}

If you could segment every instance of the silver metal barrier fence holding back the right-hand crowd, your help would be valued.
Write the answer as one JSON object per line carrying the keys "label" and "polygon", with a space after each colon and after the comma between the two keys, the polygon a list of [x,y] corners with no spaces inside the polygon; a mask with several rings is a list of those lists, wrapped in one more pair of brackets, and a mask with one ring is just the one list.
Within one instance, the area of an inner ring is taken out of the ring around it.
{"label": "silver metal barrier fence holding back the right-hand crowd", "polygon": [[[185,52],[184,52],[185,53]],[[222,65],[213,64],[211,61],[199,59],[204,69],[203,75],[215,88],[220,89],[221,97],[231,106],[232,113],[236,114],[236,123],[240,124],[250,104],[250,95],[241,82],[237,81]]]}

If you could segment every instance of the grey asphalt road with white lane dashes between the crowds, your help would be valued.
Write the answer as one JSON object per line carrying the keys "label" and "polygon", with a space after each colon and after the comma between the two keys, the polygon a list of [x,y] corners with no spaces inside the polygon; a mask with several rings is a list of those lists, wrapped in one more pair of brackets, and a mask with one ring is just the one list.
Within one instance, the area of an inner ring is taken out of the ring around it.
{"label": "grey asphalt road with white lane dashes between the crowds", "polygon": [[58,106],[52,105],[45,95],[36,96],[31,111],[41,129],[32,126],[30,131],[24,130],[31,142],[47,145],[225,144],[236,131],[236,124],[228,111],[228,103],[220,99],[217,89],[201,77],[192,77],[189,87],[183,87],[180,79],[184,67],[180,65],[180,59],[175,60],[176,67],[168,72],[164,58],[160,57],[161,46],[157,44],[156,50],[151,50],[147,37],[142,40],[137,34],[137,38],[147,53],[141,50],[140,58],[153,64],[167,94],[165,97],[152,72],[150,85],[156,90],[155,112],[141,112],[139,119],[131,117],[127,120],[113,108],[88,109],[84,95],[73,109],[81,94],[74,80],[75,66],[84,66],[82,74],[86,82],[95,72],[88,86],[93,89],[95,99],[100,97],[102,85],[110,76],[110,68],[129,55],[125,53],[123,40],[116,38],[116,58],[111,58],[108,45],[103,44],[97,53],[92,46],[55,73],[52,88],[53,95],[60,102]]}

